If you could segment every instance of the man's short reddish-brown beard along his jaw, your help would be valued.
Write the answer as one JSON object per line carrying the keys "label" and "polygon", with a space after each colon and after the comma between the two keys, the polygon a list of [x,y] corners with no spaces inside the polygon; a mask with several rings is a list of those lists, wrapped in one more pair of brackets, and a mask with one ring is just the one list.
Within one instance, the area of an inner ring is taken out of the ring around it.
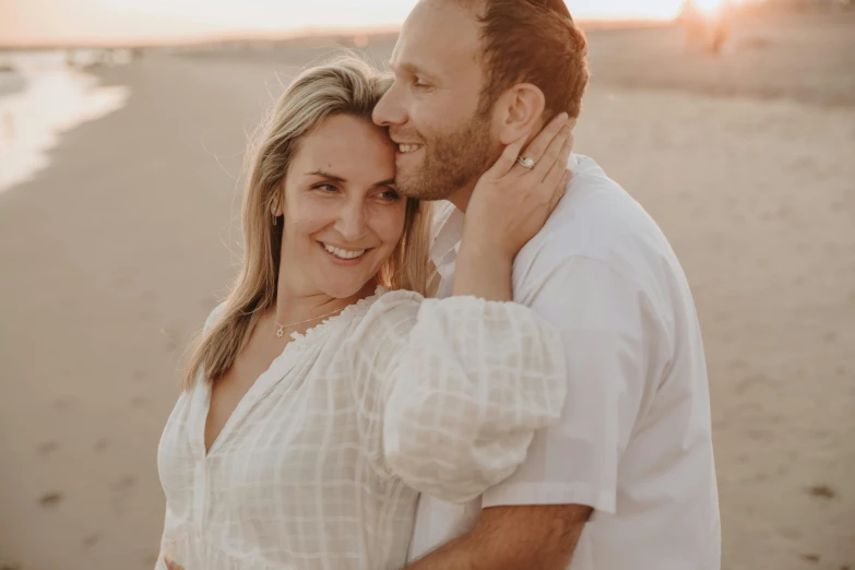
{"label": "man's short reddish-brown beard along his jaw", "polygon": [[423,150],[421,164],[411,173],[399,173],[395,179],[407,198],[444,200],[474,185],[499,157],[490,140],[489,120],[482,114],[454,132],[425,139]]}

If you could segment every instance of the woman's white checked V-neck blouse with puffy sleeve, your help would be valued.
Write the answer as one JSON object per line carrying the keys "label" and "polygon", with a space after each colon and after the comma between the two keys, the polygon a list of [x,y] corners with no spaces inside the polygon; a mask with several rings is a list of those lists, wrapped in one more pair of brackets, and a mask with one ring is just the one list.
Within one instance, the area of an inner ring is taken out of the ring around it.
{"label": "woman's white checked V-neck blouse with puffy sleeve", "polygon": [[466,501],[513,473],[560,417],[565,369],[521,305],[378,288],[295,334],[207,454],[210,382],[180,395],[156,568],[397,570],[418,492]]}

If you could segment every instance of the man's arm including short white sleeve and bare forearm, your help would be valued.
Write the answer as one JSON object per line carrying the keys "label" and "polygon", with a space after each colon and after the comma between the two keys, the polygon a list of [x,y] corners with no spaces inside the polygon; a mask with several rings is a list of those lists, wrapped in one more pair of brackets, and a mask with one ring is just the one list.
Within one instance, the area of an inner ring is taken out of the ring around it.
{"label": "man's arm including short white sleeve and bare forearm", "polygon": [[[537,274],[544,277],[525,302],[565,341],[561,424],[538,431],[520,468],[483,495],[472,532],[407,570],[566,570],[593,510],[616,511],[618,461],[644,395],[658,321],[636,280],[598,259],[577,256]],[[427,526],[418,548],[436,544]]]}

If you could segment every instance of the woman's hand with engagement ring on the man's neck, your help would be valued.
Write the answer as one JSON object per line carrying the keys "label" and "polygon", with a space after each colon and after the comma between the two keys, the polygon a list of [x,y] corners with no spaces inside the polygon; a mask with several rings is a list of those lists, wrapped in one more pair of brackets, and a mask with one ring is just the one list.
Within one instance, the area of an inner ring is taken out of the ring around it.
{"label": "woman's hand with engagement ring on the man's neck", "polygon": [[[565,194],[573,146],[567,114],[553,119],[521,154],[529,134],[509,144],[482,175],[466,209],[461,248],[498,253],[512,261],[544,226]],[[518,163],[534,161],[534,168]]]}

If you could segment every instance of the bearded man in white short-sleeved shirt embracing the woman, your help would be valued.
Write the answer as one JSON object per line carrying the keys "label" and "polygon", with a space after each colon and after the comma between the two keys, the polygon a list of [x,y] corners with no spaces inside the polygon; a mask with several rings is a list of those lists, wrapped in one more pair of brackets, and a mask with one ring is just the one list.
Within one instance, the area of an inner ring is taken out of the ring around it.
{"label": "bearded man in white short-sleeved shirt embracing the woman", "polygon": [[[561,0],[420,0],[375,110],[397,185],[447,199],[431,258],[448,295],[475,181],[519,136],[579,116],[586,43]],[[527,157],[525,152],[521,158]],[[519,253],[514,297],[563,332],[558,427],[472,504],[423,496],[412,570],[712,570],[721,525],[694,305],[667,240],[590,158]]]}

